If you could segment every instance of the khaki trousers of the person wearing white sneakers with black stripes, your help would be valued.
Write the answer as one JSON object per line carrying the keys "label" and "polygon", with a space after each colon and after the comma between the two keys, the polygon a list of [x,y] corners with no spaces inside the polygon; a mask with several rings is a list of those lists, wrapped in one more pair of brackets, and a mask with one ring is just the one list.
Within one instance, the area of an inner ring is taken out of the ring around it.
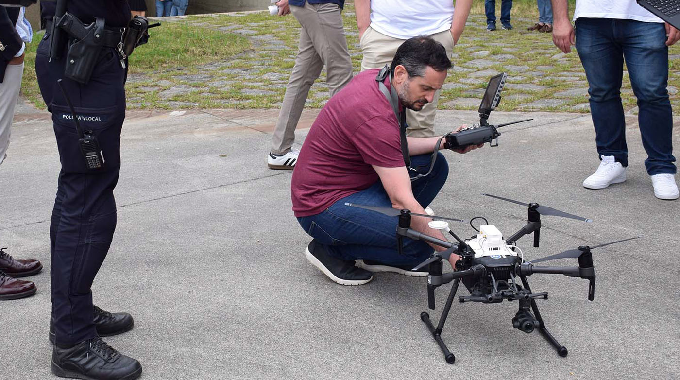
{"label": "khaki trousers of the person wearing white sneakers with black stripes", "polygon": [[284,154],[292,148],[309,88],[321,75],[324,65],[331,97],[352,80],[352,60],[347,50],[340,7],[306,2],[304,7],[290,5],[290,10],[302,30],[299,52],[271,139],[273,154]]}

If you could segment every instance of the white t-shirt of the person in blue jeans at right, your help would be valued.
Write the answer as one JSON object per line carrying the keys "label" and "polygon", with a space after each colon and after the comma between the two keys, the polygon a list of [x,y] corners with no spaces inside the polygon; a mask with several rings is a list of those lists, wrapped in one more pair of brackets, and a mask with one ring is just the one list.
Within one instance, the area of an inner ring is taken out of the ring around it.
{"label": "white t-shirt of the person in blue jeans at right", "polygon": [[574,20],[579,17],[664,22],[635,0],[576,0]]}

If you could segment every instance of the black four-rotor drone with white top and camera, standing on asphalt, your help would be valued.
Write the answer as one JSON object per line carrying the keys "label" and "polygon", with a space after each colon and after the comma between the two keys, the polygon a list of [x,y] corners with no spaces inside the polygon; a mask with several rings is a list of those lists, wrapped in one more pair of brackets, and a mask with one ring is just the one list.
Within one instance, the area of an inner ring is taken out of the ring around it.
{"label": "black four-rotor drone with white top and camera, standing on asphalt", "polygon": [[[433,252],[430,257],[415,266],[413,271],[417,271],[428,266],[428,280],[427,280],[427,297],[428,307],[435,309],[435,289],[445,283],[454,282],[449,292],[449,296],[444,305],[444,309],[439,317],[439,323],[435,327],[432,324],[432,319],[427,312],[420,313],[420,319],[426,324],[428,330],[434,337],[435,341],[441,348],[446,362],[453,364],[456,361],[456,356],[449,351],[446,343],[441,338],[441,332],[449,315],[458,286],[462,282],[465,288],[469,291],[469,296],[459,296],[460,303],[476,302],[476,303],[501,303],[503,300],[518,301],[519,310],[512,319],[512,326],[517,330],[526,332],[527,334],[538,329],[541,335],[556,349],[557,353],[564,357],[567,356],[568,350],[564,345],[560,344],[557,339],[549,332],[541,317],[541,312],[536,300],[543,298],[547,300],[548,292],[532,292],[527,277],[535,273],[551,273],[558,275],[565,275],[568,277],[579,277],[589,281],[588,286],[588,300],[595,299],[595,267],[592,257],[592,249],[604,247],[615,243],[621,243],[638,237],[623,239],[619,241],[612,241],[610,243],[596,245],[590,247],[588,245],[581,245],[577,249],[568,249],[559,254],[539,258],[537,260],[525,260],[522,250],[517,247],[515,242],[525,235],[534,235],[534,247],[539,247],[540,232],[541,232],[541,215],[553,215],[563,218],[570,218],[580,220],[582,222],[592,222],[591,219],[583,218],[581,216],[566,213],[552,207],[539,205],[538,203],[522,203],[514,201],[509,198],[495,196],[491,194],[482,194],[492,198],[500,199],[511,203],[517,203],[528,207],[528,220],[526,226],[522,227],[514,235],[507,239],[503,239],[503,234],[491,224],[488,224],[486,218],[476,217],[475,219],[485,220],[486,224],[475,228],[470,221],[470,225],[479,232],[470,239],[462,240],[448,226],[446,220],[454,220],[454,218],[443,218],[437,215],[432,215],[429,209],[425,214],[411,213],[408,209],[393,209],[390,207],[374,207],[368,205],[357,205],[353,203],[345,203],[345,205],[361,207],[384,213],[390,216],[398,216],[398,225],[396,228],[398,240],[398,252],[402,252],[403,237],[410,239],[418,239],[439,245],[446,248],[441,252]],[[413,216],[424,216],[433,218],[429,222],[430,228],[442,230],[452,235],[458,243],[450,243],[449,241],[437,239],[422,232],[411,229],[411,218]],[[453,272],[443,273],[442,260],[448,260],[452,254],[460,256],[460,260],[456,261]],[[549,260],[556,260],[560,258],[577,258],[578,266],[537,266],[534,263],[544,262]]]}

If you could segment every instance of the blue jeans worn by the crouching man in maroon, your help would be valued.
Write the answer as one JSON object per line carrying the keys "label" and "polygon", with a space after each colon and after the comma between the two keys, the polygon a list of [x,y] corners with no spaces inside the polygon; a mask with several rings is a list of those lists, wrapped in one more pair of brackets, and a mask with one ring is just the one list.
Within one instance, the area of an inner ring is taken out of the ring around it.
{"label": "blue jeans worn by the crouching man in maroon", "polygon": [[[430,156],[411,157],[411,166],[428,165]],[[428,169],[429,166],[420,172],[426,173]],[[448,174],[449,165],[443,154],[438,153],[432,173],[411,182],[413,196],[422,207],[427,207],[437,196]],[[305,232],[324,245],[329,254],[341,260],[365,259],[392,265],[415,265],[432,253],[432,247],[424,241],[404,238],[404,255],[400,256],[397,252],[396,216],[345,206],[345,202],[392,207],[385,188],[378,180],[370,188],[345,196],[321,213],[298,218]]]}

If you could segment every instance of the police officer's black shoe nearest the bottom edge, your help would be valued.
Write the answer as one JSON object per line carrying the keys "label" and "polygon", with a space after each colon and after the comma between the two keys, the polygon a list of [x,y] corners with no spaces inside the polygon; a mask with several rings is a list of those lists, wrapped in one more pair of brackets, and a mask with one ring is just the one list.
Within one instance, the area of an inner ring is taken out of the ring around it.
{"label": "police officer's black shoe nearest the bottom edge", "polygon": [[70,348],[55,345],[52,373],[86,380],[132,380],[141,375],[141,364],[97,336]]}

